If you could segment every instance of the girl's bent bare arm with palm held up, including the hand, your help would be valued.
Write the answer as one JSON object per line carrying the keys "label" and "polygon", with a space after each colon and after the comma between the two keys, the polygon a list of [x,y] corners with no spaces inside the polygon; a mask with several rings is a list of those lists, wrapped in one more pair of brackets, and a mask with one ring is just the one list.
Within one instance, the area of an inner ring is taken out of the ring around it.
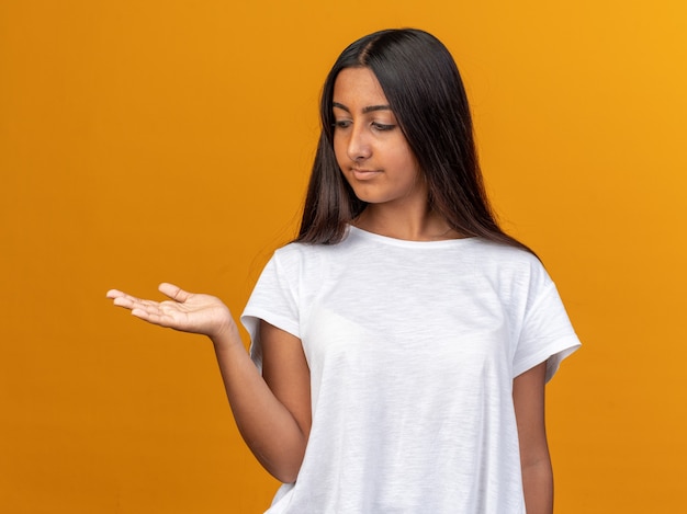
{"label": "girl's bent bare arm with palm held up, including the hand", "polygon": [[301,341],[262,322],[263,378],[246,352],[232,313],[218,298],[187,293],[171,284],[161,284],[159,289],[169,301],[144,300],[115,289],[108,297],[150,323],[207,335],[246,444],[272,476],[293,482],[311,424],[309,372]]}

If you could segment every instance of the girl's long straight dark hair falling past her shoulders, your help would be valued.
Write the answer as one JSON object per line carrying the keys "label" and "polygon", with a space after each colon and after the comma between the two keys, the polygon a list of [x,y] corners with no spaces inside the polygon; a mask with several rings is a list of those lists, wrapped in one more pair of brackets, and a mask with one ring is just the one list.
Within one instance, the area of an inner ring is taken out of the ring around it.
{"label": "girl's long straight dark hair falling past her shoulders", "polygon": [[430,208],[466,237],[527,247],[498,226],[475,149],[468,96],[453,57],[431,34],[385,30],[348,46],[334,64],[320,98],[322,133],[296,241],[334,244],[365,208],[342,176],[334,152],[334,84],[346,68],[376,77],[428,185]]}

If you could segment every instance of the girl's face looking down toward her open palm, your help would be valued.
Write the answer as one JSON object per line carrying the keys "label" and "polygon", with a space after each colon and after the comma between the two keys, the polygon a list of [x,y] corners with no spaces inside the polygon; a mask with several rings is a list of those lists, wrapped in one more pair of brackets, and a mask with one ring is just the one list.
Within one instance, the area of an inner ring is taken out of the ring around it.
{"label": "girl's face looking down toward her open palm", "polygon": [[426,205],[426,183],[372,70],[341,70],[333,100],[334,152],[356,196],[370,204]]}

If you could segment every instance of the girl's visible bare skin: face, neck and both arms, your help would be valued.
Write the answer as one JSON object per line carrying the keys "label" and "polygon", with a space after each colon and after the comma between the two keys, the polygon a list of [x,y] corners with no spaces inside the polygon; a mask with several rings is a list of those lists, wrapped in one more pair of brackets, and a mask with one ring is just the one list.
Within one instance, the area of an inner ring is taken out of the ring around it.
{"label": "girl's visible bare skin: face, neck and both arms", "polygon": [[[334,90],[334,149],[356,194],[369,205],[354,224],[397,239],[459,238],[428,207],[427,185],[388,102],[368,68],[348,68]],[[259,328],[262,375],[246,353],[226,306],[209,295],[160,285],[167,301],[108,293],[114,305],[150,323],[207,335],[215,347],[237,426],[262,466],[295,481],[311,430],[309,369],[301,341],[264,321]],[[553,480],[544,427],[545,363],[513,384],[528,514],[553,510]]]}

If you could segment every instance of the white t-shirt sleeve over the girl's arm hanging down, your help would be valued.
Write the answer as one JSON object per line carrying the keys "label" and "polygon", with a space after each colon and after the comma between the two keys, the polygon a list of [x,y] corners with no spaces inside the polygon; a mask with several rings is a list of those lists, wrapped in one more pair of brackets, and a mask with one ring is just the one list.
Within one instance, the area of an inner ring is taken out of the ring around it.
{"label": "white t-shirt sleeve over the girl's arm hanging down", "polygon": [[530,295],[515,351],[513,375],[517,377],[547,361],[549,381],[561,362],[581,343],[559,292],[543,267],[531,285]]}

